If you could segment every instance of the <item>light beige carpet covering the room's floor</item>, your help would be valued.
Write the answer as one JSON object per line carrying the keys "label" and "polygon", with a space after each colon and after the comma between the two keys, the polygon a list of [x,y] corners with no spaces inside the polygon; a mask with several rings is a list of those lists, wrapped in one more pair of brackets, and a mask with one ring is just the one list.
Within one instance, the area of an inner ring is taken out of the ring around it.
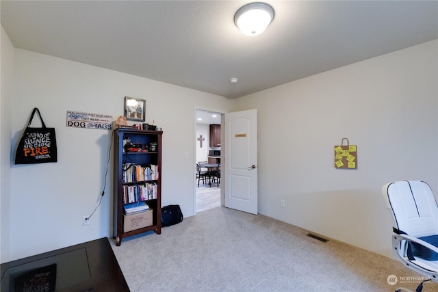
{"label": "light beige carpet covering the room's floor", "polygon": [[[388,238],[388,244],[390,238]],[[217,207],[112,248],[131,291],[415,291],[398,261],[263,215]],[[399,282],[391,286],[390,275]],[[438,291],[435,282],[424,292]]]}

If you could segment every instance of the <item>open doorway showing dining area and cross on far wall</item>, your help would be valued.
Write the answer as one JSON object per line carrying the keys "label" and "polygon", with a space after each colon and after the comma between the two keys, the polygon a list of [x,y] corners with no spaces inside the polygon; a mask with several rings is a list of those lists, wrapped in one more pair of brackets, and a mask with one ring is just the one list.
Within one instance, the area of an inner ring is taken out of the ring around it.
{"label": "open doorway showing dining area and cross on far wall", "polygon": [[[220,207],[220,122],[222,113],[196,109],[196,164],[203,174],[196,171],[196,213]],[[215,168],[203,168],[202,164],[219,165]],[[216,173],[214,173],[216,171]]]}

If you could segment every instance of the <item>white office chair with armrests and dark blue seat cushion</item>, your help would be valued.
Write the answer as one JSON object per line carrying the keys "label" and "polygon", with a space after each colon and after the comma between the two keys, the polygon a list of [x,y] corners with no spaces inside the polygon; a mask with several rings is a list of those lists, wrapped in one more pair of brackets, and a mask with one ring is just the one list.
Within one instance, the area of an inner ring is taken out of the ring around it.
{"label": "white office chair with armrests and dark blue seat cushion", "polygon": [[[394,224],[392,248],[396,258],[425,276],[423,282],[428,278],[438,282],[438,204],[429,185],[424,181],[396,181],[384,185],[382,193]],[[421,291],[422,283],[417,291]]]}

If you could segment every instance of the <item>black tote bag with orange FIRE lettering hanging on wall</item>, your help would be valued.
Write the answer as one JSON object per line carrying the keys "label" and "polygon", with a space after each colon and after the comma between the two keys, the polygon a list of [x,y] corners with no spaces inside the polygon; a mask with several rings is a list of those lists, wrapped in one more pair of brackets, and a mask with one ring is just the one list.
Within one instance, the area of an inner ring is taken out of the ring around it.
{"label": "black tote bag with orange FIRE lettering hanging on wall", "polygon": [[[40,116],[41,128],[31,128],[30,124],[35,112]],[[42,120],[40,110],[34,108],[29,123],[16,148],[15,164],[32,164],[44,162],[56,162],[56,137],[55,128],[47,128]]]}

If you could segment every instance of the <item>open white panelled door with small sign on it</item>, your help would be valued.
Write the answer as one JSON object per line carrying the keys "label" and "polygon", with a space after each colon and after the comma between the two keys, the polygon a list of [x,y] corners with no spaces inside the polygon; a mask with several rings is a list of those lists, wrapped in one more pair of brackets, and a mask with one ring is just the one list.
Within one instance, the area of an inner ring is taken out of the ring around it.
{"label": "open white panelled door with small sign on it", "polygon": [[258,213],[257,109],[225,114],[225,207]]}

